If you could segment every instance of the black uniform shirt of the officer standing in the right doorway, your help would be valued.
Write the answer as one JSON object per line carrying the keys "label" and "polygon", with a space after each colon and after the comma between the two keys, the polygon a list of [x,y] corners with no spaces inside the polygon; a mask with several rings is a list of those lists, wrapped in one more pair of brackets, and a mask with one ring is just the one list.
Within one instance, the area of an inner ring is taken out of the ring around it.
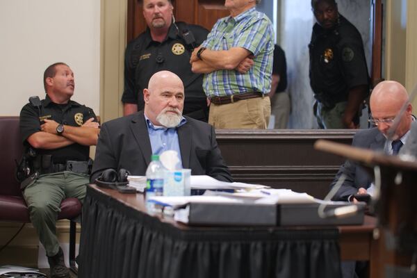
{"label": "black uniform shirt of the officer standing in the right doorway", "polygon": [[332,29],[313,26],[309,50],[310,85],[324,106],[332,108],[347,101],[351,88],[369,85],[361,34],[342,15]]}

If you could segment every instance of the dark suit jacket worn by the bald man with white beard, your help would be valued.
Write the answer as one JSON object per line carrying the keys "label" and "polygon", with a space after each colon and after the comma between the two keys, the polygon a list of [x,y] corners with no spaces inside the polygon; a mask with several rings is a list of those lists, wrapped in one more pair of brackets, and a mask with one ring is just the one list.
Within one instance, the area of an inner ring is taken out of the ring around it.
{"label": "dark suit jacket worn by the bald man with white beard", "polygon": [[[213,126],[184,116],[177,129],[181,160],[191,174],[207,174],[221,181],[233,181],[215,140]],[[143,111],[120,117],[101,126],[90,181],[112,168],[144,176],[151,161],[152,147]]]}

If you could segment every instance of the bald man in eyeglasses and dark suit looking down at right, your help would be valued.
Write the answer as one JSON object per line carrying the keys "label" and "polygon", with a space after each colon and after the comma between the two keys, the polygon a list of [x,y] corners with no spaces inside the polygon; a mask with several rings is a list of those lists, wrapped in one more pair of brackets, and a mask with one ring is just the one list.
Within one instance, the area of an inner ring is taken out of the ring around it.
{"label": "bald man in eyeglasses and dark suit looking down at right", "polygon": [[[370,95],[370,111],[373,119],[370,120],[375,127],[358,131],[352,145],[364,149],[381,150],[387,154],[396,155],[402,145],[405,145],[409,138],[411,122],[414,121],[412,106],[408,103],[409,95],[404,86],[396,81],[382,81],[373,90]],[[404,104],[407,107],[402,115],[399,115]],[[392,135],[389,135],[389,129],[394,124],[395,117],[399,118],[399,123]],[[388,140],[388,142],[387,142]],[[347,178],[341,188],[334,195],[334,200],[357,202],[354,194],[366,194],[373,190],[373,179],[369,177],[359,164],[347,160],[336,174],[331,187],[336,181],[345,174]]]}

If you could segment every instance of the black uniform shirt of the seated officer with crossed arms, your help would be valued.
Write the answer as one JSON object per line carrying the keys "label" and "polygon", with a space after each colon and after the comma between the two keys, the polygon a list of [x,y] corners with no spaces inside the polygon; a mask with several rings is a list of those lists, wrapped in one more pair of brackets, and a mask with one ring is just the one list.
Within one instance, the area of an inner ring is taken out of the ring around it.
{"label": "black uniform shirt of the seated officer with crossed arms", "polygon": [[[42,106],[38,109],[32,104],[26,104],[20,111],[20,133],[24,145],[33,133],[41,131],[41,121],[54,120],[58,124],[81,126],[86,120],[97,117],[91,108],[69,101],[68,104],[55,104],[48,97],[42,99]],[[65,163],[67,160],[88,161],[90,147],[74,143],[58,149],[36,149],[37,154],[51,154],[54,163]]]}

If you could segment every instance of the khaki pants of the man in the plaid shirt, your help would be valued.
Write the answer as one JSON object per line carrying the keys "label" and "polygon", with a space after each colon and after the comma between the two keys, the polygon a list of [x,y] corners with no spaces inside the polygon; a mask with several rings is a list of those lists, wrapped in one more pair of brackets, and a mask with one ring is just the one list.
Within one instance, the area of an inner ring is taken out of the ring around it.
{"label": "khaki pants of the man in the plaid shirt", "polygon": [[266,129],[270,116],[270,98],[256,97],[233,104],[210,104],[208,123],[215,129]]}

